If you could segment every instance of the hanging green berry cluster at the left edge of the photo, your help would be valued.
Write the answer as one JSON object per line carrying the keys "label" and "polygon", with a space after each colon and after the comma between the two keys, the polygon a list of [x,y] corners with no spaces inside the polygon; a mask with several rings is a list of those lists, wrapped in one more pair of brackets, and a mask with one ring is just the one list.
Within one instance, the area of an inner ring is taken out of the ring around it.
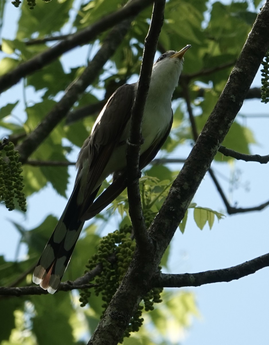
{"label": "hanging green berry cluster at the left edge of the photo", "polygon": [[14,150],[13,142],[4,140],[0,143],[0,200],[3,200],[9,211],[14,210],[14,199],[17,199],[22,211],[26,211],[26,199],[23,193],[22,168],[19,152]]}

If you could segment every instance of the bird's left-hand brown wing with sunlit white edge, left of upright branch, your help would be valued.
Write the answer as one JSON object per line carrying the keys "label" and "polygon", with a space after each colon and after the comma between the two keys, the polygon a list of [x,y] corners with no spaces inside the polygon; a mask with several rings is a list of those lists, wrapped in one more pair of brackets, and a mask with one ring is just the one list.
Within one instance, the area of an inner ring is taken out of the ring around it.
{"label": "bird's left-hand brown wing with sunlit white edge, left of upright branch", "polygon": [[81,199],[79,203],[81,215],[92,203],[92,193],[106,178],[102,174],[130,119],[134,93],[134,84],[123,85],[114,92],[98,116],[91,135],[85,140],[80,150],[76,183],[80,184],[78,199]]}

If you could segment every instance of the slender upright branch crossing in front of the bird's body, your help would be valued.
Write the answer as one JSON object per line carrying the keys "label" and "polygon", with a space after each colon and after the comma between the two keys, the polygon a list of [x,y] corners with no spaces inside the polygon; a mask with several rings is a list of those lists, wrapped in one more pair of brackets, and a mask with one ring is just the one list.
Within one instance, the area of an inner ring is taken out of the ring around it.
{"label": "slender upright branch crossing in front of the bird's body", "polygon": [[132,220],[134,237],[140,253],[151,245],[144,220],[139,191],[139,154],[143,142],[141,124],[148,95],[152,65],[157,48],[157,42],[164,20],[165,0],[154,2],[151,23],[145,39],[142,65],[137,86],[137,93],[131,111],[130,139],[127,147],[127,178],[129,214]]}

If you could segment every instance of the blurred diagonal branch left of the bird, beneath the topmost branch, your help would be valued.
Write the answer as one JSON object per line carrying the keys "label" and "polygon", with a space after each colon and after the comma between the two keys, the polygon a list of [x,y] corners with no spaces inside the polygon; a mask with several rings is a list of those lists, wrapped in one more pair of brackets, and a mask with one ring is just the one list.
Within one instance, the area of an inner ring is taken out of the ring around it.
{"label": "blurred diagonal branch left of the bird, beneath the topmost branch", "polygon": [[24,163],[28,157],[36,150],[41,142],[50,134],[57,124],[64,118],[79,95],[94,81],[98,76],[99,70],[104,66],[106,61],[114,54],[117,47],[121,43],[123,37],[127,33],[131,19],[127,19],[115,26],[104,40],[103,45],[96,53],[92,61],[89,62],[87,68],[82,75],[71,85],[66,91],[62,99],[49,112],[49,114],[41,121],[41,123],[33,130],[33,132],[16,148]]}

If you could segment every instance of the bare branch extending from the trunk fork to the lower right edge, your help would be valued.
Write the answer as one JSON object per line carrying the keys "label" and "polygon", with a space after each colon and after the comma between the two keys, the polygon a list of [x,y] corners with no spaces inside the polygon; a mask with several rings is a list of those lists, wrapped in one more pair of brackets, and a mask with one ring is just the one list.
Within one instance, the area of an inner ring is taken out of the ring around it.
{"label": "bare branch extending from the trunk fork to the lower right edge", "polygon": [[156,274],[152,278],[154,287],[185,287],[201,286],[219,282],[231,282],[253,274],[258,270],[269,266],[269,254],[259,256],[243,264],[224,269],[215,269],[200,273],[185,274]]}

